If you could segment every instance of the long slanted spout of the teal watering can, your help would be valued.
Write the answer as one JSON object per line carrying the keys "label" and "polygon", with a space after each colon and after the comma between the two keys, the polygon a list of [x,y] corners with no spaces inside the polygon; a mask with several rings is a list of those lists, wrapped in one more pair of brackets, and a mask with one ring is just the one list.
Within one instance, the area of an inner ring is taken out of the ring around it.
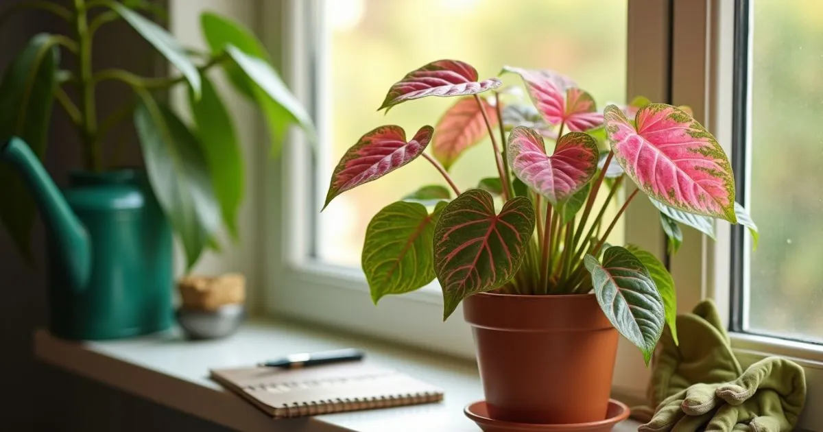
{"label": "long slanted spout of the teal watering can", "polygon": [[51,247],[55,250],[51,251],[50,256],[58,261],[53,265],[61,268],[72,289],[83,290],[91,276],[91,241],[86,228],[26,142],[17,137],[0,142],[0,160],[12,165],[21,174],[37,202],[40,215],[53,238]]}

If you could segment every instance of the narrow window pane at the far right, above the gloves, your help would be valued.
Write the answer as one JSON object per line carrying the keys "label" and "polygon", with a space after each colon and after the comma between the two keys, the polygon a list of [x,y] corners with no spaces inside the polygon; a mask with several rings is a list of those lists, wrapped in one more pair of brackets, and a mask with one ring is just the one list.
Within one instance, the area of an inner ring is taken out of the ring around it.
{"label": "narrow window pane at the far right, above the gloves", "polygon": [[756,0],[744,327],[823,342],[823,2]]}

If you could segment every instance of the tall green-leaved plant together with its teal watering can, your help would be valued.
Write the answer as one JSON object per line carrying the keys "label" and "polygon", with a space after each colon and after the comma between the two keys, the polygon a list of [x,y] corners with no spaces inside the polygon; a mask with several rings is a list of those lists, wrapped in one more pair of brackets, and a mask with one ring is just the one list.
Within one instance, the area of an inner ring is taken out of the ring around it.
{"label": "tall green-leaved plant together with its teal watering can", "polygon": [[[202,251],[219,249],[223,226],[237,239],[244,166],[235,128],[212,84],[222,70],[235,90],[265,114],[276,152],[286,128],[313,136],[309,116],[269,63],[262,44],[243,26],[214,13],[201,16],[209,49],[184,48],[143,12],[162,15],[146,0],[20,2],[0,12],[42,9],[67,21],[70,35],[35,35],[0,81],[0,220],[21,253],[30,255],[35,202],[49,241],[49,329],[60,337],[127,337],[168,327],[173,315],[172,234],[187,268]],[[141,77],[127,70],[94,70],[97,30],[125,21],[178,71]],[[71,70],[61,57],[76,61]],[[95,108],[98,85],[119,81],[132,90],[120,109]],[[188,87],[192,122],[165,103],[175,86]],[[72,98],[70,95],[76,95]],[[81,139],[84,165],[63,193],[40,165],[53,105],[63,108]],[[133,118],[144,170],[107,164],[108,132]]]}

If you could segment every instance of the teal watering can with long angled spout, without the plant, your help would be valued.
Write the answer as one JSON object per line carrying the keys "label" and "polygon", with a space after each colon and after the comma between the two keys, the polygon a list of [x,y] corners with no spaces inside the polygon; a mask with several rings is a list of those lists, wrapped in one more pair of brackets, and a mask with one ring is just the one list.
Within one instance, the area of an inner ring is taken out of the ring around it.
{"label": "teal watering can with long angled spout, without the plant", "polygon": [[61,193],[21,139],[0,142],[0,160],[21,174],[46,227],[55,336],[114,339],[170,327],[172,235],[140,171],[72,174]]}

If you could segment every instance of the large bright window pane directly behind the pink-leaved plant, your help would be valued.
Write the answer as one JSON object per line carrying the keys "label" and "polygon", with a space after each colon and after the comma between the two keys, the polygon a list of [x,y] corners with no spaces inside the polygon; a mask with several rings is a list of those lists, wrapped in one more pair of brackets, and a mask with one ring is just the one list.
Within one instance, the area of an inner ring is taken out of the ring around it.
{"label": "large bright window pane directly behind the pink-leaved plant", "polygon": [[[333,132],[321,157],[322,193],[340,156],[365,132],[398,124],[411,137],[435,125],[453,98],[426,98],[375,110],[389,86],[441,58],[463,60],[482,78],[504,65],[551,68],[574,78],[598,109],[625,100],[627,0],[328,0],[325,71]],[[516,76],[504,85],[519,85]],[[325,96],[325,95],[324,95]],[[452,168],[460,188],[496,177],[491,145],[481,142]],[[359,266],[371,216],[422,185],[445,184],[425,160],[343,193],[319,217],[317,254]]]}

